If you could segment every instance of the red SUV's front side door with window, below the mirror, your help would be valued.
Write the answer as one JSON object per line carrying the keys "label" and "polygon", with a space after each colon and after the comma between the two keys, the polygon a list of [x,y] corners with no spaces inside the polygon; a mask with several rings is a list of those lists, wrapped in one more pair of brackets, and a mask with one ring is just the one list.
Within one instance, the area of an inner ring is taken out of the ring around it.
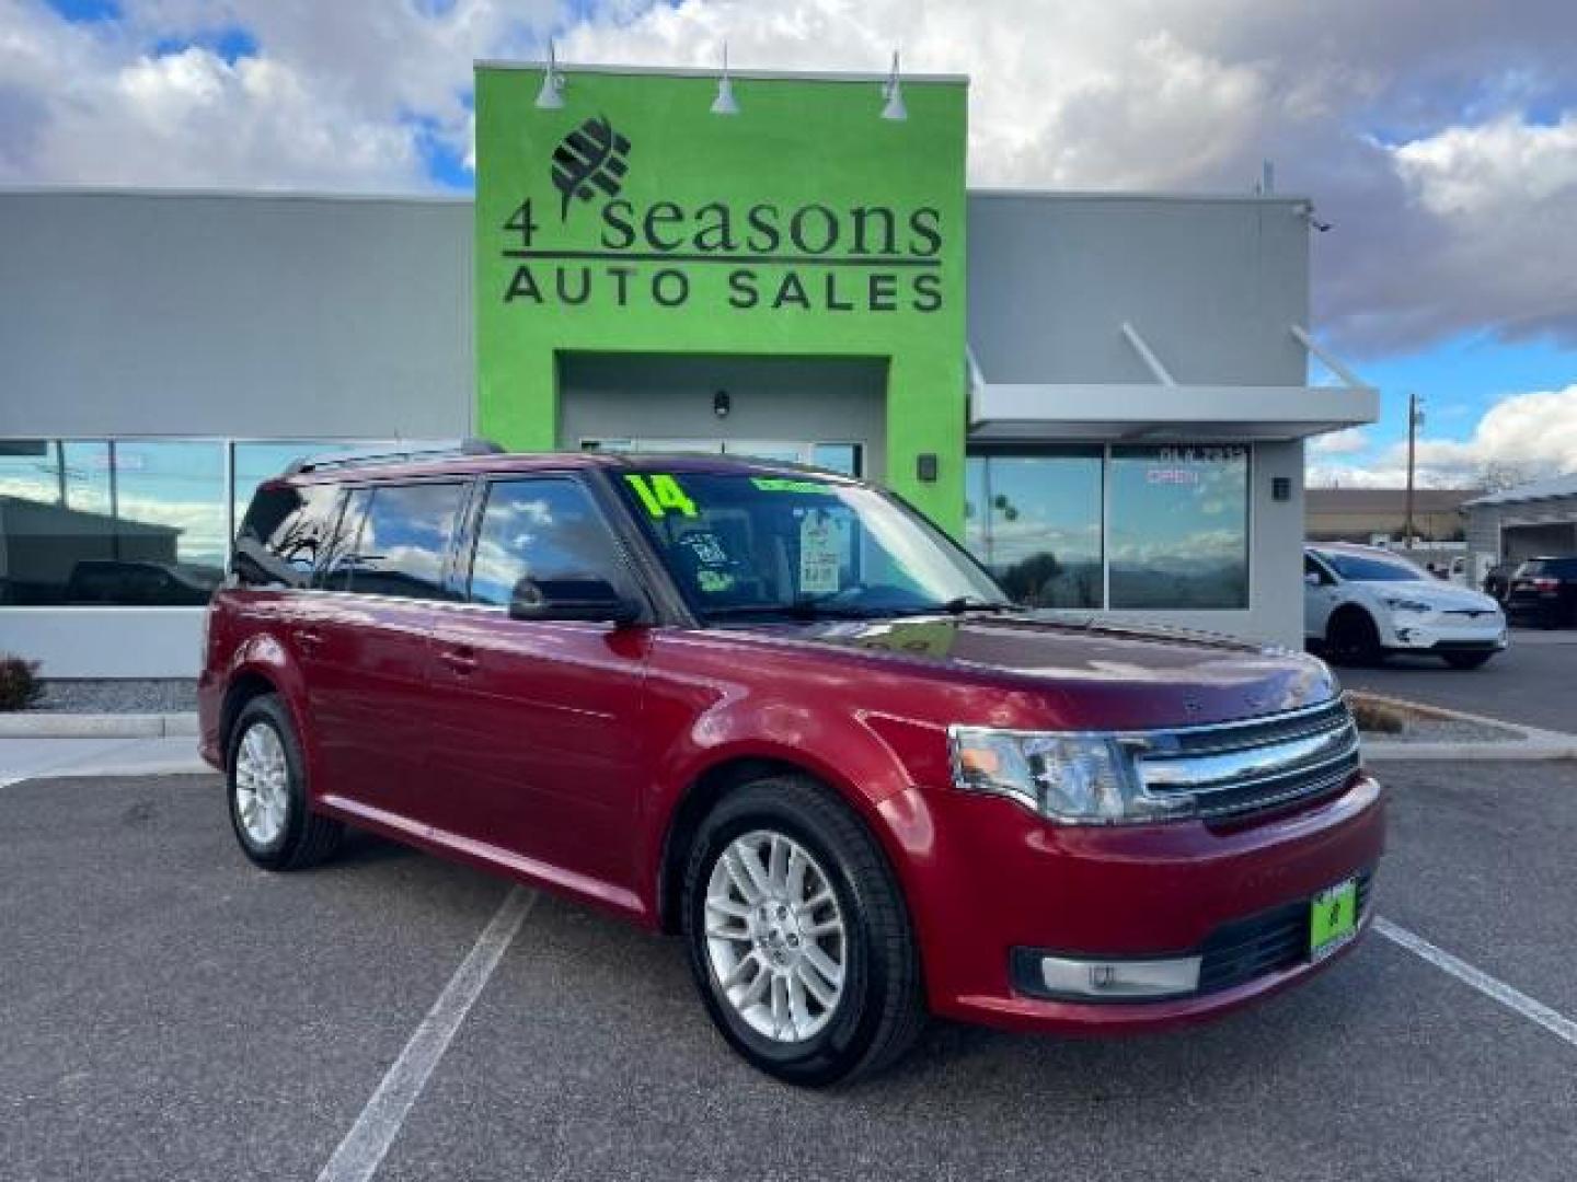
{"label": "red SUV's front side door with window, below the mirror", "polygon": [[459,564],[467,604],[440,610],[434,634],[435,824],[533,873],[552,867],[550,878],[577,889],[617,887],[628,903],[650,779],[640,734],[650,629],[511,619],[508,604],[522,577],[596,575],[642,597],[639,583],[577,478],[489,479],[472,517]]}

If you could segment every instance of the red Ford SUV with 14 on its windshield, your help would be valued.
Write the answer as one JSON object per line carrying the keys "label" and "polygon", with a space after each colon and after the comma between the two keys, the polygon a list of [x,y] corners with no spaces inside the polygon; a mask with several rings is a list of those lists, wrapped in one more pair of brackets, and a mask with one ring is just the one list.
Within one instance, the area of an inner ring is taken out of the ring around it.
{"label": "red Ford SUV with 14 on its windshield", "polygon": [[243,851],[344,824],[683,933],[757,1067],[927,1013],[1107,1034],[1369,922],[1380,786],[1323,663],[1057,623],[889,493],[711,457],[296,465],[208,616]]}

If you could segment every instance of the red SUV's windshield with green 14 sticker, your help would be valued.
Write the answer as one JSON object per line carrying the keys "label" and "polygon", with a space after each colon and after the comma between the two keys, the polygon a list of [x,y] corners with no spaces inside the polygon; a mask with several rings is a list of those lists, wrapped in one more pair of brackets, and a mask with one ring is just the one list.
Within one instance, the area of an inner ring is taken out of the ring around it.
{"label": "red SUV's windshield with green 14 sticker", "polygon": [[990,575],[874,489],[806,476],[628,473],[621,495],[706,621],[1003,607]]}

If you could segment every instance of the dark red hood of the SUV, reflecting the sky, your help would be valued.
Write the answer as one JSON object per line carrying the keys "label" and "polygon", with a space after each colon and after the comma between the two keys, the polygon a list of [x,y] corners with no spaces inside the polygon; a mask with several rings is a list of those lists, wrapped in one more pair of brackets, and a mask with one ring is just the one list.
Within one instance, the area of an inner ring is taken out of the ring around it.
{"label": "dark red hood of the SUV, reflecting the sky", "polygon": [[986,679],[1001,689],[1030,690],[1064,728],[1230,722],[1312,706],[1340,692],[1325,662],[1301,652],[1113,623],[967,615],[765,630],[798,645],[902,662],[916,673],[962,675],[975,684]]}

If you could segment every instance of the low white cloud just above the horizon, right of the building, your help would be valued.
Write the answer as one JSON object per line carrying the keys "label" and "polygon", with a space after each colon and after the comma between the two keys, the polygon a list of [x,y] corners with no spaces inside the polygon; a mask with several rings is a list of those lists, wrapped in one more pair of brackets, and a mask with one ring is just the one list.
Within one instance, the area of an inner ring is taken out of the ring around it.
{"label": "low white cloud just above the horizon, right of the building", "polygon": [[[1421,438],[1415,466],[1418,484],[1433,489],[1470,489],[1486,474],[1517,482],[1577,471],[1577,383],[1501,399],[1468,440]],[[1361,465],[1314,463],[1309,484],[1400,489],[1407,484],[1407,443],[1394,443]]]}

